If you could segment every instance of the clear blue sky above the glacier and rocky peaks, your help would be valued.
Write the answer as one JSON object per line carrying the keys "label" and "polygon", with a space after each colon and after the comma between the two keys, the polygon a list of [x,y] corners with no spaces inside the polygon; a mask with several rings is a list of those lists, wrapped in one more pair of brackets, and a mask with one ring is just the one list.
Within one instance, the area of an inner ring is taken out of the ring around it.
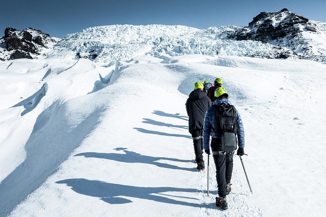
{"label": "clear blue sky above the glacier and rocky peaks", "polygon": [[63,37],[82,29],[114,24],[248,26],[263,11],[289,11],[326,21],[326,0],[5,0],[0,36],[6,27],[39,29]]}

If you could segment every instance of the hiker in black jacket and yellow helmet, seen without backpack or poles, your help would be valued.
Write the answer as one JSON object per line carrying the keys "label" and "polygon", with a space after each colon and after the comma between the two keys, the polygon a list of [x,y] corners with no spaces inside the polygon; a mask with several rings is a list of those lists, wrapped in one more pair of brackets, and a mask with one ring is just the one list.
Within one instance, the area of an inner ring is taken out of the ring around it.
{"label": "hiker in black jacket and yellow helmet, seen without backpack or poles", "polygon": [[203,126],[205,113],[211,107],[211,100],[203,89],[203,83],[196,82],[194,90],[189,94],[186,102],[187,114],[189,116],[189,132],[192,134],[198,170],[205,169],[203,161]]}

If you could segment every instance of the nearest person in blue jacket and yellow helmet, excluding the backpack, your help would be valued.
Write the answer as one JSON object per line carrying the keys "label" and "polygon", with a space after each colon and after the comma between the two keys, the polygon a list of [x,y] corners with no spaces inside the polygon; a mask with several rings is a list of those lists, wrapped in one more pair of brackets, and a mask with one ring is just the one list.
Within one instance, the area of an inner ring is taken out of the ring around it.
{"label": "nearest person in blue jacket and yellow helmet, excluding the backpack", "polygon": [[[231,102],[228,99],[228,92],[219,87],[215,90],[214,93],[215,101],[213,105],[221,105],[223,103]],[[216,181],[218,187],[218,196],[216,197],[216,206],[221,207],[223,210],[228,209],[228,204],[226,200],[226,195],[228,195],[231,191],[230,181],[232,176],[233,169],[233,152],[226,152],[222,150],[221,142],[222,139],[217,137],[214,134],[214,119],[215,119],[215,109],[216,106],[211,106],[210,109],[207,110],[204,119],[204,128],[203,128],[203,145],[205,149],[205,153],[210,153],[210,136],[211,137],[211,151],[213,154],[213,159],[216,167]],[[236,110],[236,120],[239,125],[239,132],[237,133],[238,138],[238,150],[237,155],[244,155],[244,147],[245,147],[245,131],[242,123],[241,116]]]}

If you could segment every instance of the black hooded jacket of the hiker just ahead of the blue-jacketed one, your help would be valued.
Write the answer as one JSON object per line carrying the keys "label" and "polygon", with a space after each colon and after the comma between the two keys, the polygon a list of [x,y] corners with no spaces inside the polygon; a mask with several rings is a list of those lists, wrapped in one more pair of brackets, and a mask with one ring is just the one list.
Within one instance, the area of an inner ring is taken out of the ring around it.
{"label": "black hooded jacket of the hiker just ahead of the blue-jacketed one", "polygon": [[204,117],[208,108],[211,107],[211,100],[206,92],[193,90],[186,102],[187,114],[189,116],[189,132],[194,129],[203,129]]}

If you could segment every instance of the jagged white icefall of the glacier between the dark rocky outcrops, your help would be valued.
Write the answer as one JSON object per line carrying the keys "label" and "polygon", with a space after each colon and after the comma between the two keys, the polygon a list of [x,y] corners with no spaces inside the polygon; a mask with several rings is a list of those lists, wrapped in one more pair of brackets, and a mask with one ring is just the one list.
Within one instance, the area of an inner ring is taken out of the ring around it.
{"label": "jagged white icefall of the glacier between the dark rocky outcrops", "polygon": [[[79,53],[97,54],[96,63],[114,60],[128,61],[134,56],[180,56],[204,54],[211,56],[238,55],[276,58],[289,51],[260,41],[234,41],[239,26],[210,27],[200,30],[187,26],[168,25],[110,25],[97,26],[65,36],[54,46],[51,58],[75,59]],[[293,56],[295,56],[293,54]]]}

